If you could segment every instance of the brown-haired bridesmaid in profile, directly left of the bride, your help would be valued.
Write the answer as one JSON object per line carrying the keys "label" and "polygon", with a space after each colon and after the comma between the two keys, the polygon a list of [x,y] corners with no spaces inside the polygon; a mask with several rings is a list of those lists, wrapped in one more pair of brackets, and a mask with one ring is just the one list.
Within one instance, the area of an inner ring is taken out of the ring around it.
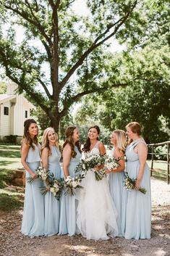
{"label": "brown-haired bridesmaid in profile, directly left of the bride", "polygon": [[[79,131],[76,126],[69,126],[66,129],[66,140],[63,144],[63,170],[64,177],[75,177],[75,168],[80,162],[81,149],[79,143]],[[59,234],[76,234],[76,212],[77,199],[74,196],[64,195],[61,197],[61,217]]]}

